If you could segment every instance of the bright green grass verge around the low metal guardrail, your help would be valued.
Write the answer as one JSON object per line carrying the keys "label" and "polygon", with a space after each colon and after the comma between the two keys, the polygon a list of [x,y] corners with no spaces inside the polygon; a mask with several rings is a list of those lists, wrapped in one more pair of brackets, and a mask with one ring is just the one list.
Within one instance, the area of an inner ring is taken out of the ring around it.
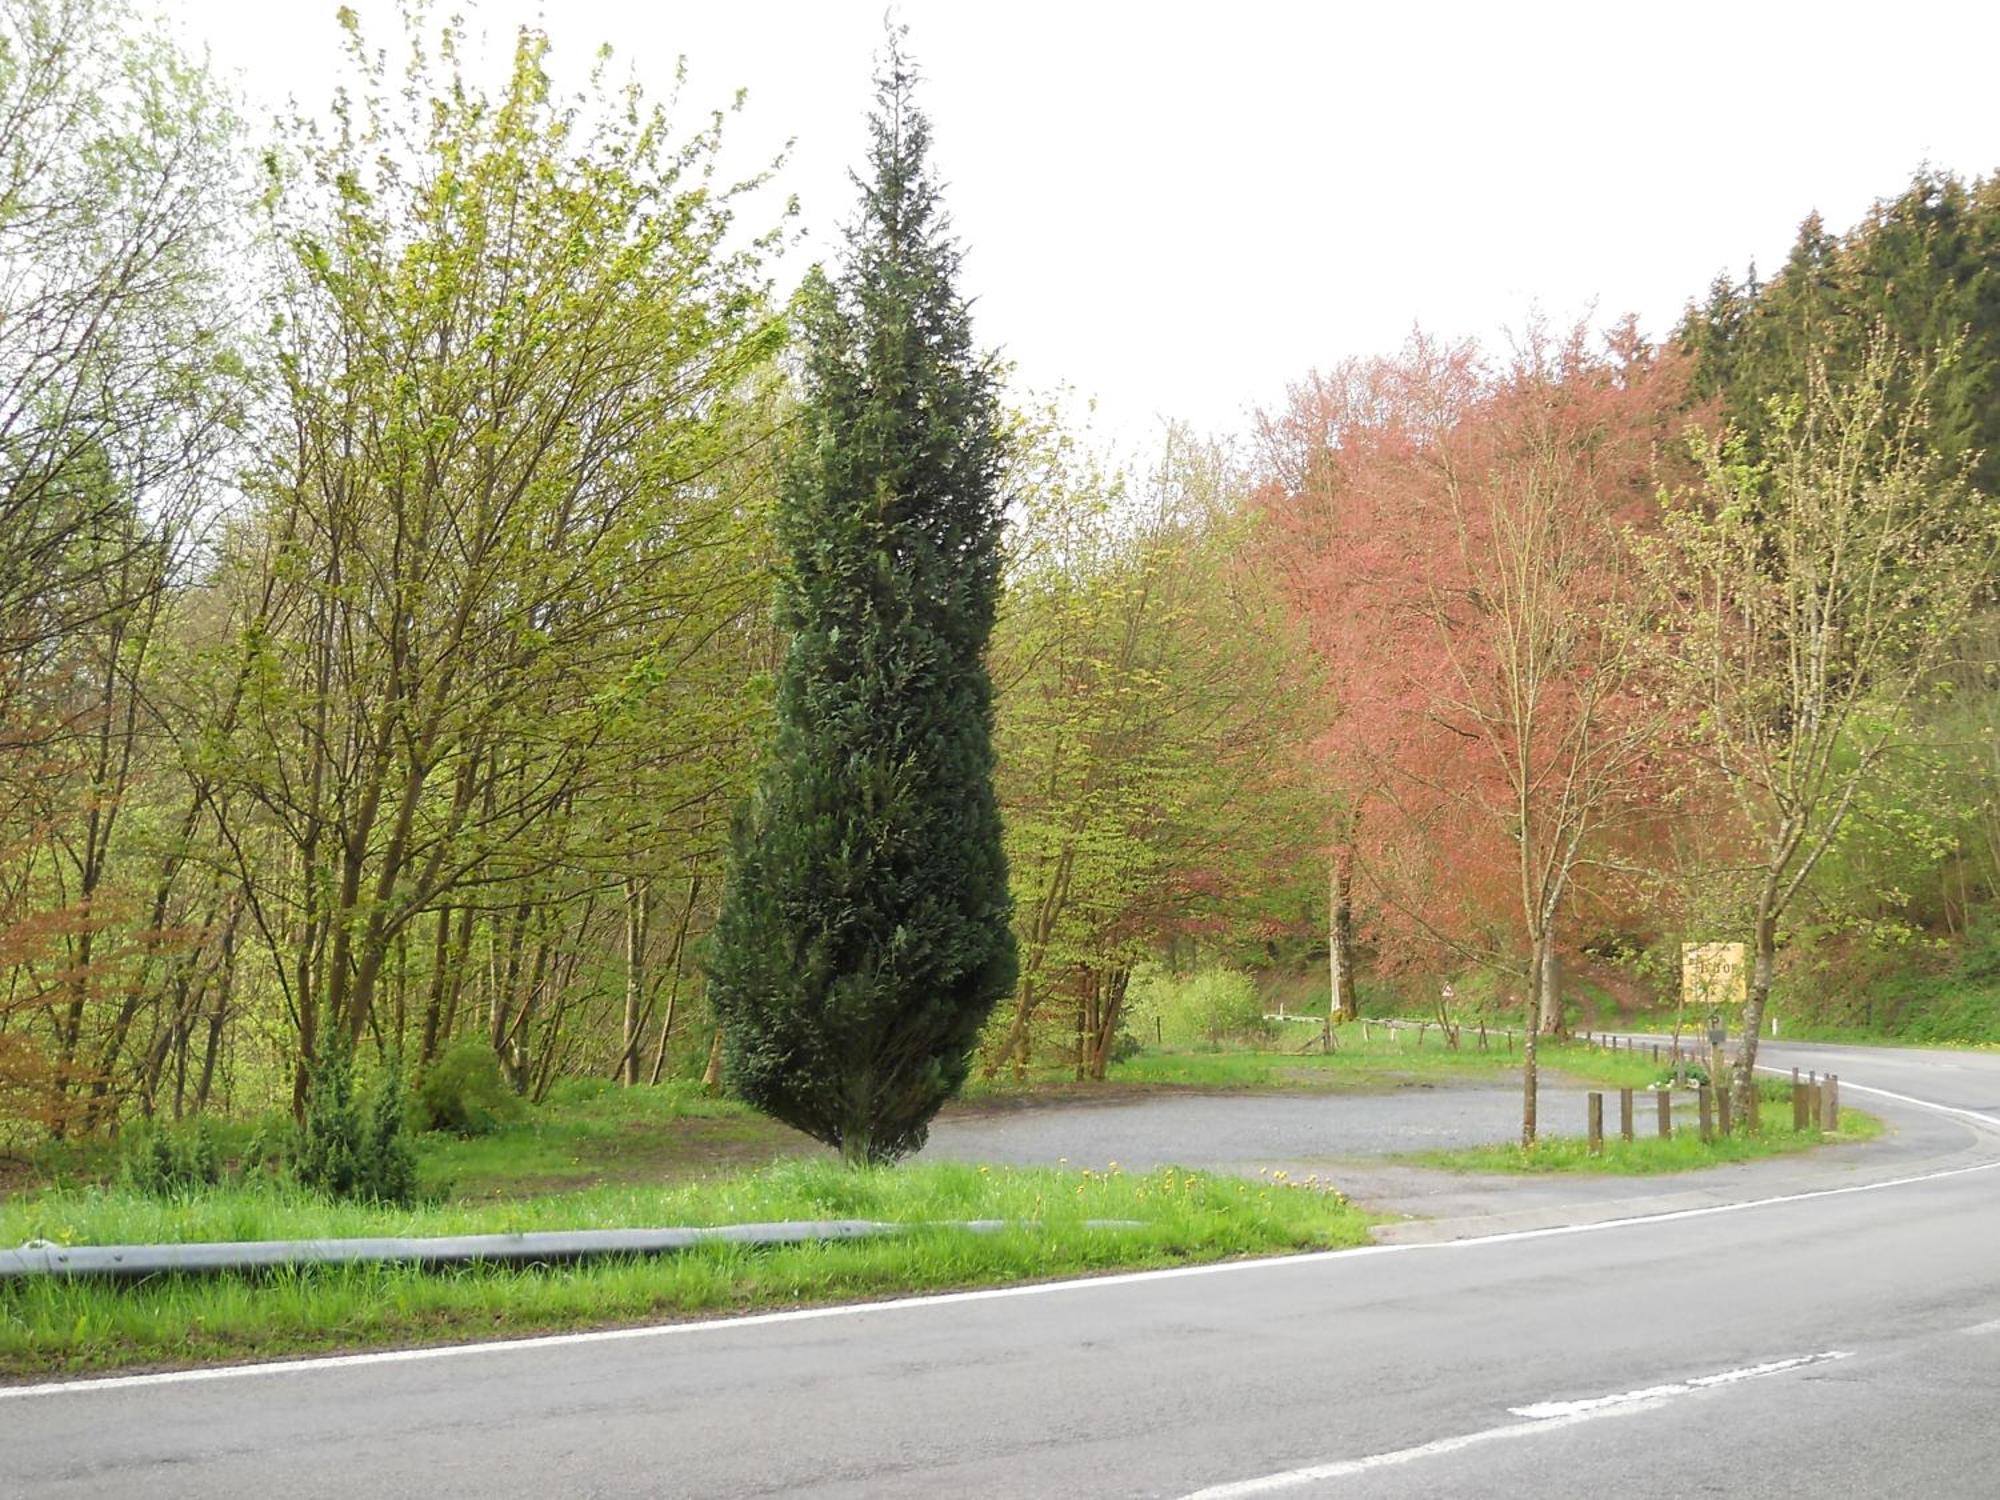
{"label": "bright green grass verge around the low metal guardrail", "polygon": [[[800,1160],[678,1188],[592,1188],[562,1198],[418,1210],[334,1206],[276,1188],[154,1202],[120,1190],[44,1192],[0,1208],[0,1242],[322,1238],[530,1228],[874,1218],[1008,1218],[966,1234],[702,1246],[572,1268],[322,1268],[254,1278],[166,1276],[136,1286],[34,1278],[0,1284],[0,1376],[268,1358],[384,1344],[660,1322],[906,1292],[1174,1266],[1360,1244],[1368,1216],[1316,1182],[1276,1184],[1162,1168],[1148,1174],[922,1164],[850,1172]],[[1090,1218],[1142,1228],[1086,1228]]]}

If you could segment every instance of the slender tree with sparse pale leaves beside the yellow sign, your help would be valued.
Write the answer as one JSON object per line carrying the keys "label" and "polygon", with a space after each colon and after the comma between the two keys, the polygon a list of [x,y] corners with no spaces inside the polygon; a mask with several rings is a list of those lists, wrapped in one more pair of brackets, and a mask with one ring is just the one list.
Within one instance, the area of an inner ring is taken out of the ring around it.
{"label": "slender tree with sparse pale leaves beside the yellow sign", "polygon": [[[1884,332],[1836,384],[1772,408],[1762,458],[1702,446],[1704,486],[1670,504],[1656,560],[1680,600],[1666,658],[1698,762],[1754,852],[1732,894],[1754,938],[1736,1092],[1746,1096],[1780,922],[1860,808],[1922,746],[2000,558],[2000,510],[1926,446],[1934,368]],[[1878,816],[1876,828],[1888,826]]]}

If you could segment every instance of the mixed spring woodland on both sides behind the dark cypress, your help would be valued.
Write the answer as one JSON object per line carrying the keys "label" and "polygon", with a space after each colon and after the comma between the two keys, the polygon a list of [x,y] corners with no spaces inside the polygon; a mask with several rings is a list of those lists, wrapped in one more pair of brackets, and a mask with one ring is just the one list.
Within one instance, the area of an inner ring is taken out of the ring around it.
{"label": "mixed spring woodland on both sides behind the dark cypress", "polygon": [[[0,14],[0,1146],[346,1054],[718,1080],[840,430],[782,166],[534,32],[482,80],[348,18],[272,138],[116,0]],[[1102,1078],[1206,968],[1556,1030],[1706,938],[1754,1008],[2000,1040],[2000,178],[1678,328],[1338,354],[1128,460],[998,388],[972,1066]]]}

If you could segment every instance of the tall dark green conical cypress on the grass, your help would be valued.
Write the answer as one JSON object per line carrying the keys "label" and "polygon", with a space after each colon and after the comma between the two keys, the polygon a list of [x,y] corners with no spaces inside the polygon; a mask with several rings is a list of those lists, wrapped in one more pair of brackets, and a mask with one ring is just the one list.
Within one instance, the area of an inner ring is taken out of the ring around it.
{"label": "tall dark green conical cypress on the grass", "polygon": [[710,960],[730,1086],[848,1162],[924,1144],[1014,984],[984,666],[998,406],[898,40],[844,266],[798,298],[790,650]]}

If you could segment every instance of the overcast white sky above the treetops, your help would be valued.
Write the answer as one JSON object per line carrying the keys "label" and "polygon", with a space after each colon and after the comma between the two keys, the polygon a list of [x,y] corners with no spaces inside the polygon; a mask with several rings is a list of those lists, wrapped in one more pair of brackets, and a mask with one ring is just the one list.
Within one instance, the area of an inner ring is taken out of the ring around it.
{"label": "overcast white sky above the treetops", "polygon": [[[334,0],[162,0],[252,104],[324,102]],[[388,0],[354,0],[394,42]],[[446,10],[452,6],[446,4]],[[460,0],[610,42],[694,124],[738,86],[746,166],[830,252],[882,0]],[[1412,324],[1504,340],[1530,308],[1664,330],[1724,266],[1776,266],[1920,162],[2000,168],[2000,4],[1110,4],[900,0],[978,330],[1128,440],[1240,430]]]}

